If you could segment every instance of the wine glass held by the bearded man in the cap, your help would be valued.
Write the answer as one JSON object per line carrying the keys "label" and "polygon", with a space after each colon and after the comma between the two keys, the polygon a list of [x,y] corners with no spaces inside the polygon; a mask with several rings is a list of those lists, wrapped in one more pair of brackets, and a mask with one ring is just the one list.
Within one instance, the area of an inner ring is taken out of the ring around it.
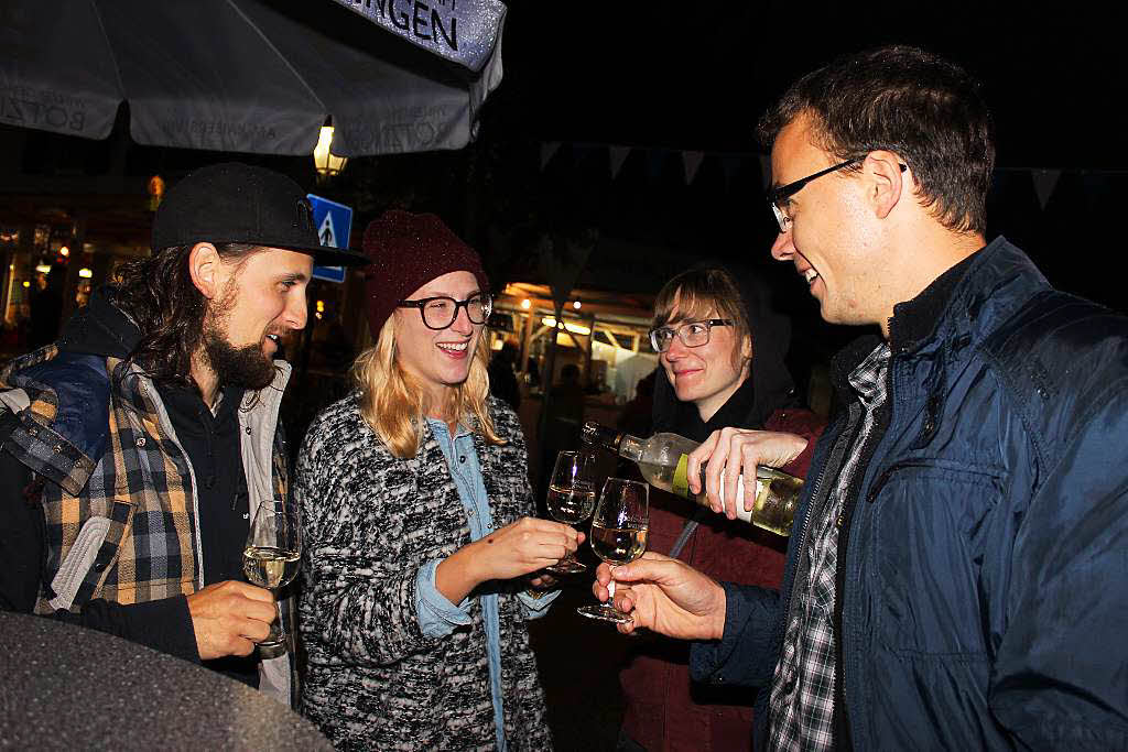
{"label": "wine glass held by the bearded man in the cap", "polygon": [[277,619],[271,625],[259,649],[285,651],[287,634],[282,625],[282,605],[277,591],[294,578],[301,560],[301,513],[291,501],[266,498],[258,503],[255,519],[243,549],[243,572],[252,584],[274,594]]}

